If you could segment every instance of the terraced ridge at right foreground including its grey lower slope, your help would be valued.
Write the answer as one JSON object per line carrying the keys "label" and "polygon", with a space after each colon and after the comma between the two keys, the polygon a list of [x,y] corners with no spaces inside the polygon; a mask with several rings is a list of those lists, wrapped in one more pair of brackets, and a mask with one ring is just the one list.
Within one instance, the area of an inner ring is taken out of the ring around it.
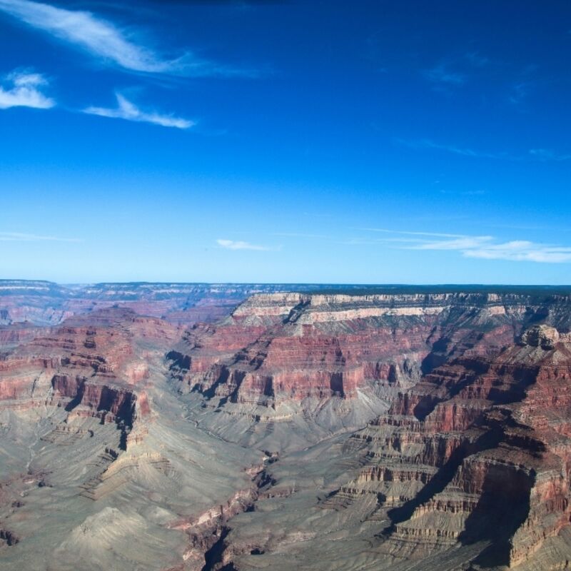
{"label": "terraced ridge at right foreground including its grey lower slope", "polygon": [[[534,327],[495,357],[452,360],[345,440],[350,480],[335,487],[343,463],[329,459],[320,497],[302,477],[303,507],[258,502],[232,522],[223,560],[241,570],[565,568],[570,415],[571,335]],[[271,476],[278,488],[288,480],[277,467]],[[303,543],[287,540],[295,532]]]}

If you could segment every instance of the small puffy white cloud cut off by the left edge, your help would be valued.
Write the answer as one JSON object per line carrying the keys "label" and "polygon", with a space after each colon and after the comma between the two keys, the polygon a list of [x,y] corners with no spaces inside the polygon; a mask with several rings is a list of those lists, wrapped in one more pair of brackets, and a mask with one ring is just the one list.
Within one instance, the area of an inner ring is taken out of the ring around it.
{"label": "small puffy white cloud cut off by the left edge", "polygon": [[9,107],[33,107],[49,109],[54,107],[54,99],[42,93],[48,81],[41,74],[30,71],[12,71],[0,85],[0,109]]}

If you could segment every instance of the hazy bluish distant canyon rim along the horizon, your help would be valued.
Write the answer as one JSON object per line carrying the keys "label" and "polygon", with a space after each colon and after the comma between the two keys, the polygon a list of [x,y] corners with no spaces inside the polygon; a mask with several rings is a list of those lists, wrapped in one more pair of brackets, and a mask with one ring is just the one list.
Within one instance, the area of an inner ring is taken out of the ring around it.
{"label": "hazy bluish distant canyon rim along the horizon", "polygon": [[[325,293],[339,290],[343,290],[345,296],[355,297],[364,293],[365,297],[384,297],[386,303],[398,303],[395,299],[400,297],[404,306],[409,303],[415,306],[432,304],[443,295],[450,295],[450,288],[422,285],[387,285],[374,288],[362,285],[343,285],[340,288],[323,284],[168,282],[59,285],[49,281],[0,280],[0,328],[14,323],[59,325],[72,315],[113,306],[131,309],[139,315],[163,318],[176,325],[189,326],[196,323],[213,323],[226,318],[238,304],[251,295],[291,291]],[[499,295],[503,304],[536,305],[541,306],[542,310],[565,303],[564,299],[568,295],[566,290],[549,286],[467,286],[466,291],[468,293],[461,295],[477,298],[479,295],[491,293]],[[270,297],[268,303],[271,305],[274,300]],[[546,315],[537,317],[541,319]]]}

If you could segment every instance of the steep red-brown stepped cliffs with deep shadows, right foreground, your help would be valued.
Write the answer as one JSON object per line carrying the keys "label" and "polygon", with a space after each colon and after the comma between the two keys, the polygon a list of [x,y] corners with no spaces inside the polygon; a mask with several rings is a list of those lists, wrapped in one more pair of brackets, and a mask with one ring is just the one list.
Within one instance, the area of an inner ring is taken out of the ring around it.
{"label": "steep red-brown stepped cliffs with deep shadows, right foreground", "polygon": [[375,494],[392,555],[485,541],[476,562],[518,565],[570,525],[570,380],[571,343],[546,327],[435,369],[352,439],[370,464],[338,501]]}

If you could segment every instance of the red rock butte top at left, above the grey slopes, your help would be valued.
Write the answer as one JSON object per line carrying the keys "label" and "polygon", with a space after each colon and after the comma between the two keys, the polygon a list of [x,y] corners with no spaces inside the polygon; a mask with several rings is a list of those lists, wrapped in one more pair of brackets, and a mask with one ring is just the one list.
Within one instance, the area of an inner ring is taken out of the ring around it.
{"label": "red rock butte top at left, above the grey slopes", "polygon": [[0,400],[34,406],[34,388],[43,376],[51,383],[52,399],[66,410],[127,427],[137,398],[133,385],[148,376],[145,352],[151,349],[145,345],[166,349],[179,335],[157,318],[113,308],[69,318],[42,333],[0,360]]}

